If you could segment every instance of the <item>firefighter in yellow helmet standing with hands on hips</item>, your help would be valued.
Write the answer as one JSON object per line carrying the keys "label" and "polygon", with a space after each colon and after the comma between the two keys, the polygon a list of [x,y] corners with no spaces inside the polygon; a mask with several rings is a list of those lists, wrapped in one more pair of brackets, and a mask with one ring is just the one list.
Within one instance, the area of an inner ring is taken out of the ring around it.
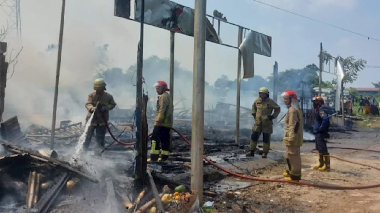
{"label": "firefighter in yellow helmet standing with hands on hips", "polygon": [[[252,116],[255,118],[255,125],[252,127],[251,142],[247,156],[254,156],[257,141],[260,134],[263,133],[263,155],[266,158],[271,144],[271,134],[273,132],[273,122],[280,114],[280,106],[269,98],[269,90],[265,87],[259,89],[258,97],[252,105]],[[273,114],[272,114],[273,113]]]}

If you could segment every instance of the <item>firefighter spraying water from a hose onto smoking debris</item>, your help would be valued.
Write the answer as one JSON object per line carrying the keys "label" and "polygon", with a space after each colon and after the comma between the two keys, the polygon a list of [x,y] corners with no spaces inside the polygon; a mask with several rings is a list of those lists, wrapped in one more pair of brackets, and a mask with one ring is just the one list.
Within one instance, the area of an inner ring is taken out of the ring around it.
{"label": "firefighter spraying water from a hose onto smoking debris", "polygon": [[[87,131],[86,141],[83,144],[84,149],[88,149],[90,146],[90,141],[94,130],[96,130],[96,138],[98,141],[98,146],[104,147],[104,139],[107,132],[106,123],[103,117],[107,119],[109,117],[109,110],[116,107],[116,102],[111,94],[105,92],[106,82],[102,78],[95,79],[93,83],[94,92],[91,92],[87,96],[86,108],[87,108],[87,118],[86,122],[91,122],[91,125]],[[98,103],[99,102],[99,103]],[[95,114],[92,121],[89,121],[92,113]]]}

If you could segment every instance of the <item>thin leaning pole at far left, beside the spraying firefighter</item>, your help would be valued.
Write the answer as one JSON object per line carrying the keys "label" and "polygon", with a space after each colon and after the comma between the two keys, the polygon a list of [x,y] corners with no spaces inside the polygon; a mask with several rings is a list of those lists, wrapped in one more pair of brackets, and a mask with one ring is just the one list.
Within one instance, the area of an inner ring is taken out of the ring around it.
{"label": "thin leaning pole at far left, beside the spraying firefighter", "polygon": [[59,73],[61,70],[61,58],[62,58],[62,42],[63,42],[63,24],[65,23],[65,5],[66,0],[62,0],[61,10],[61,24],[59,28],[59,43],[58,43],[58,58],[57,58],[57,70],[55,74],[55,89],[54,89],[54,104],[53,104],[53,119],[51,122],[51,142],[50,149],[54,149],[54,135],[55,135],[55,120],[57,118],[57,102],[58,102],[58,88],[59,88]]}

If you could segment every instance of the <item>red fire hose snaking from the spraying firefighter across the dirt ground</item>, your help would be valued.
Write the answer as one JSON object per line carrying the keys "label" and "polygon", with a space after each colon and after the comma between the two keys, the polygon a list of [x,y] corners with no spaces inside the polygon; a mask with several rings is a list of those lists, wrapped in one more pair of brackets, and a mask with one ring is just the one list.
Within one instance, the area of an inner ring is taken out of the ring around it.
{"label": "red fire hose snaking from the spraying firefighter across the dirt ground", "polygon": [[[117,143],[119,143],[121,145],[124,145],[124,146],[132,146],[132,145],[135,144],[134,142],[132,142],[132,143],[126,143],[126,142],[122,142],[122,141],[117,140],[117,138],[114,135],[112,135],[111,129],[108,126],[108,122],[106,122],[106,127],[107,127],[108,132],[111,135],[112,139],[114,139]],[[185,136],[183,136],[175,128],[173,128],[173,130],[174,130],[174,132],[176,132],[179,135],[179,137],[182,140],[185,141],[185,143],[187,143],[187,145],[189,145],[191,147],[190,141],[188,141],[188,139],[185,138]],[[148,135],[148,137],[151,136],[151,135],[152,135],[152,133],[150,133]],[[361,151],[380,153],[380,151],[370,150],[370,149],[355,149],[355,148],[348,148],[348,147],[328,147],[328,148],[329,149],[351,149],[351,150],[361,150]],[[315,150],[313,150],[312,152],[315,153]],[[336,158],[338,160],[345,161],[345,162],[348,162],[348,163],[358,164],[358,165],[361,165],[361,166],[367,166],[367,167],[370,167],[370,168],[373,168],[373,169],[376,169],[376,170],[380,171],[380,168],[375,167],[375,166],[371,166],[371,165],[368,165],[368,164],[357,163],[357,162],[354,162],[354,161],[345,160],[343,158],[339,158],[339,157],[336,157],[336,156],[333,156],[333,155],[330,155],[330,157]],[[312,186],[312,187],[331,189],[331,190],[360,190],[360,189],[370,189],[370,188],[378,188],[378,187],[380,187],[380,183],[373,184],[373,185],[365,185],[365,186],[333,186],[333,185],[323,185],[323,184],[317,184],[317,183],[306,183],[306,182],[299,182],[299,181],[276,180],[276,179],[266,179],[266,178],[252,177],[252,176],[237,174],[236,172],[233,172],[233,171],[230,171],[228,169],[225,169],[222,166],[214,163],[213,161],[211,161],[207,157],[203,157],[203,159],[206,160],[212,166],[215,166],[216,168],[222,170],[223,172],[226,172],[226,173],[228,173],[230,175],[233,175],[235,177],[240,177],[240,178],[248,179],[248,180],[256,180],[256,181],[261,181],[261,182],[291,183],[291,184],[294,184],[294,185]]]}

